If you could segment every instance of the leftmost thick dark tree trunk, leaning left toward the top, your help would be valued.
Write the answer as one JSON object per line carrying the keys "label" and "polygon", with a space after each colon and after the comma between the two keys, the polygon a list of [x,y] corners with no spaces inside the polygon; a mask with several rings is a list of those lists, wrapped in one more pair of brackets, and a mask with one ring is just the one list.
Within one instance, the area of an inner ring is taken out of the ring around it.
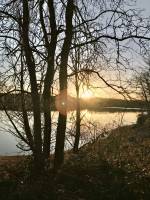
{"label": "leftmost thick dark tree trunk, leaning left toward the top", "polygon": [[43,155],[42,155],[42,136],[41,136],[41,110],[40,110],[40,96],[38,94],[36,67],[32,49],[29,43],[29,5],[28,0],[23,0],[23,24],[22,24],[22,38],[23,50],[25,52],[26,64],[29,71],[31,84],[31,98],[33,104],[33,118],[34,118],[34,170],[37,175],[43,170]]}

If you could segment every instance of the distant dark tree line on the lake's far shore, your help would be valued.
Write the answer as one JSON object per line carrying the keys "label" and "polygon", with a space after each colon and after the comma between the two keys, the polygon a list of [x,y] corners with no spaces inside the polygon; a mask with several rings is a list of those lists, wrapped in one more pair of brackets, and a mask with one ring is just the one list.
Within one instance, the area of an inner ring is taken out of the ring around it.
{"label": "distant dark tree line on the lake's far shore", "polygon": [[[32,105],[32,98],[31,94],[25,94],[25,106],[27,111],[33,111]],[[51,107],[53,111],[59,111],[57,104],[61,103],[61,99],[58,101],[58,96],[52,96],[51,98]],[[42,95],[40,96],[41,99],[41,112],[43,112],[43,100]],[[76,110],[76,98],[68,96],[67,97],[67,110]],[[117,107],[119,108],[142,108],[142,109],[149,109],[150,103],[145,100],[123,100],[123,99],[113,99],[113,98],[91,98],[91,99],[79,99],[80,102],[80,109],[90,109],[95,111],[101,111],[107,107]],[[14,111],[22,111],[21,106],[21,94],[5,94],[0,93],[0,109],[1,110],[14,110]]]}

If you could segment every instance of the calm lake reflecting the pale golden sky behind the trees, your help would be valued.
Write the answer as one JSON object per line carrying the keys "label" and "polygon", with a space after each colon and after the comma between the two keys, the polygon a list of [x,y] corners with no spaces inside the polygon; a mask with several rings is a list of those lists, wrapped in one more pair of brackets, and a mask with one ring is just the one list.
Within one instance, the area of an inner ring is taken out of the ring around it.
{"label": "calm lake reflecting the pale golden sky behind the trees", "polygon": [[[82,144],[85,140],[88,141],[92,137],[96,137],[104,129],[110,130],[117,126],[136,123],[138,114],[139,112],[91,112],[83,110],[81,113],[81,117],[83,118],[81,122],[81,130],[83,132]],[[57,119],[57,112],[53,113],[53,115],[54,119]],[[73,130],[71,121],[75,119],[74,117],[74,112],[68,114],[67,134],[71,132],[70,129]],[[0,111],[0,119],[0,155],[21,154],[21,150],[16,147],[17,139],[10,134],[10,131],[13,129],[4,111]]]}

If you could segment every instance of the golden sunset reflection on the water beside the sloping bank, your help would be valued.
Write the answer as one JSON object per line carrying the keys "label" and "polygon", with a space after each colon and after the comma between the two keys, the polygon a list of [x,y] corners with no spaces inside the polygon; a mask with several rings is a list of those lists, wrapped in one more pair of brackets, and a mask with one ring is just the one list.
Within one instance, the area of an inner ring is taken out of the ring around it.
{"label": "golden sunset reflection on the water beside the sloping bank", "polygon": [[[94,141],[99,136],[106,137],[109,133],[109,130],[114,129],[118,126],[135,124],[138,114],[139,112],[91,112],[88,110],[82,111],[82,134],[80,138],[80,146],[91,140]],[[75,115],[75,113],[69,113],[68,118],[72,118],[72,115]],[[69,143],[67,143],[67,148],[68,146]]]}

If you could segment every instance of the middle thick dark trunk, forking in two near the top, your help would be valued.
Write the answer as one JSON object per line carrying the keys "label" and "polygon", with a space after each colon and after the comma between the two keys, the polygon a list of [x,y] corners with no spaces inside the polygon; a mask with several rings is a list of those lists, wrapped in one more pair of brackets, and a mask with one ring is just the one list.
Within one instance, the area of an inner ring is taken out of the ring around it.
{"label": "middle thick dark trunk, forking in two near the top", "polygon": [[57,44],[57,29],[56,19],[53,0],[48,0],[49,9],[49,21],[51,28],[51,42],[49,42],[48,34],[46,31],[44,17],[43,17],[43,4],[44,0],[40,1],[39,12],[40,12],[40,23],[42,26],[45,47],[48,53],[47,56],[47,71],[44,80],[44,91],[43,91],[43,109],[44,109],[44,144],[43,153],[44,158],[48,159],[50,155],[50,140],[51,140],[51,88],[54,79],[54,57]]}

